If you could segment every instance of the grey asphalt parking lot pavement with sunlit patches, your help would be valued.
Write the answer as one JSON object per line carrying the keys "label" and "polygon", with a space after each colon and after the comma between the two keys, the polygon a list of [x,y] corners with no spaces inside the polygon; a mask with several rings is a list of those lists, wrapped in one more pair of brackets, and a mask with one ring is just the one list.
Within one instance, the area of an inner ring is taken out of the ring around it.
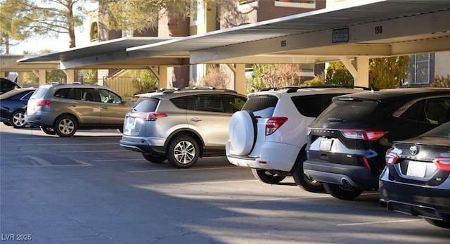
{"label": "grey asphalt parking lot pavement with sunlit patches", "polygon": [[[450,231],[356,200],[257,181],[226,158],[146,161],[115,130],[72,138],[0,124],[1,243],[449,243]],[[282,155],[281,155],[282,157]]]}

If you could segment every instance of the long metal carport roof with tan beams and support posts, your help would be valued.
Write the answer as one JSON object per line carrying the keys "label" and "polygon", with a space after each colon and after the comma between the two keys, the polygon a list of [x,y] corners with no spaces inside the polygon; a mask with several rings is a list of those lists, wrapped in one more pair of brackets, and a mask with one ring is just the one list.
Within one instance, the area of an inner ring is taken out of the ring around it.
{"label": "long metal carport roof with tan beams and support posts", "polygon": [[160,87],[167,86],[167,66],[221,63],[232,68],[235,89],[245,93],[247,63],[341,60],[355,85],[368,86],[369,58],[450,51],[449,16],[450,2],[444,0],[367,0],[190,37],[143,37],[132,45],[138,37],[105,41],[19,63],[59,61],[62,69],[159,66]]}

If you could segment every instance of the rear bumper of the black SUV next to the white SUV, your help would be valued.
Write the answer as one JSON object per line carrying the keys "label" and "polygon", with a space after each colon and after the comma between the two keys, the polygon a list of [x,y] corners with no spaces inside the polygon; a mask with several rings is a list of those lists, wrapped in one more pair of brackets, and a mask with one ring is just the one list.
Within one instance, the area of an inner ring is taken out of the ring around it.
{"label": "rear bumper of the black SUV next to the white SUV", "polygon": [[309,179],[320,182],[378,189],[378,176],[373,175],[366,167],[306,160],[303,162],[303,171]]}

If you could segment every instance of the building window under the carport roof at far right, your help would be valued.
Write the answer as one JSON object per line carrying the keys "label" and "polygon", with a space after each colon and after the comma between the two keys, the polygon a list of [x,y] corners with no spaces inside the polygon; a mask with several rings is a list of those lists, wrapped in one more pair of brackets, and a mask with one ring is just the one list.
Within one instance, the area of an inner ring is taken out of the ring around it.
{"label": "building window under the carport roof at far right", "polygon": [[411,55],[409,63],[409,75],[404,80],[404,84],[430,84],[431,77],[434,75],[432,67],[434,66],[434,54],[423,53]]}

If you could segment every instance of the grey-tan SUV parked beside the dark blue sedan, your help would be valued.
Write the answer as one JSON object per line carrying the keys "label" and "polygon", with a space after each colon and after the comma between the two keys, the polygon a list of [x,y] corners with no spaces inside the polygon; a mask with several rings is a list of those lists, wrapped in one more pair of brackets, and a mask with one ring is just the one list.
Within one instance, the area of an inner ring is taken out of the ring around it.
{"label": "grey-tan SUV parked beside the dark blue sedan", "polygon": [[27,104],[25,120],[46,134],[73,136],[77,129],[120,129],[132,103],[106,86],[47,84]]}

